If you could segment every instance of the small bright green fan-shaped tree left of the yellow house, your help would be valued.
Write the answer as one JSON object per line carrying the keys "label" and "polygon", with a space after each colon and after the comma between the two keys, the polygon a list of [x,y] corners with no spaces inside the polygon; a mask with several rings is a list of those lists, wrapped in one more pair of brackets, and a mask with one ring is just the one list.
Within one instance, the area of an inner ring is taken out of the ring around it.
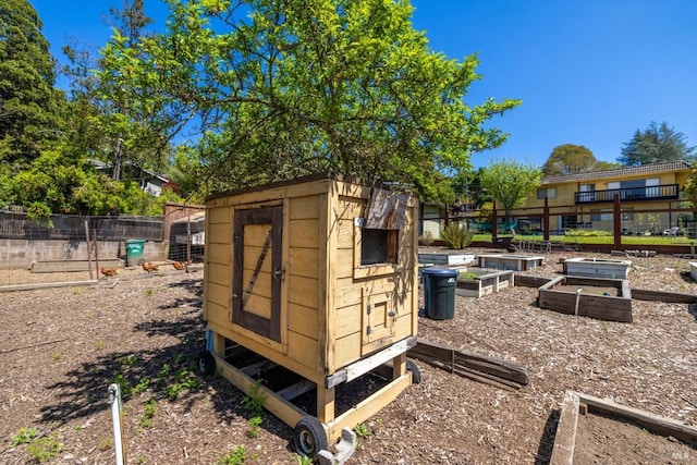
{"label": "small bright green fan-shaped tree left of the yellow house", "polygon": [[510,216],[510,210],[519,207],[534,193],[542,179],[539,168],[515,160],[502,160],[489,164],[481,171],[480,183],[491,197]]}

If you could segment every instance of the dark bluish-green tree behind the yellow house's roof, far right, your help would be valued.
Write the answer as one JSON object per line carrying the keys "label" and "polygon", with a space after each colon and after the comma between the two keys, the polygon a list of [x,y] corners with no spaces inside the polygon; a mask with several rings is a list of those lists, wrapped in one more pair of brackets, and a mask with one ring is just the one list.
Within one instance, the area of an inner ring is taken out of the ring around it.
{"label": "dark bluish-green tree behind the yellow house's roof, far right", "polygon": [[646,131],[637,130],[634,137],[622,147],[622,156],[617,161],[625,167],[639,167],[662,161],[694,161],[695,148],[687,146],[687,137],[683,133],[651,122]]}

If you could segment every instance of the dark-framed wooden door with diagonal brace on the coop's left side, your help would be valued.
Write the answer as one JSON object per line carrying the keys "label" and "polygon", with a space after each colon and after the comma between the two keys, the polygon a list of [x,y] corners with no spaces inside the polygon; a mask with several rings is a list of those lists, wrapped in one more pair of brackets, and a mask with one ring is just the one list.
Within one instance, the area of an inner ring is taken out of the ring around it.
{"label": "dark-framed wooden door with diagonal brace on the coop's left side", "polygon": [[281,341],[283,207],[235,210],[232,321]]}

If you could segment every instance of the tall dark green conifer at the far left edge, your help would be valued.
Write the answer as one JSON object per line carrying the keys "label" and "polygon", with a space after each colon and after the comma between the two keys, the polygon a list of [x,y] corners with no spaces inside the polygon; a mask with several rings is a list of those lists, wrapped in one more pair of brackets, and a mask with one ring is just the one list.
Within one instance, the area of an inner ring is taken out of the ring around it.
{"label": "tall dark green conifer at the far left edge", "polygon": [[0,158],[32,161],[61,129],[64,95],[53,88],[54,61],[42,24],[26,0],[0,0]]}

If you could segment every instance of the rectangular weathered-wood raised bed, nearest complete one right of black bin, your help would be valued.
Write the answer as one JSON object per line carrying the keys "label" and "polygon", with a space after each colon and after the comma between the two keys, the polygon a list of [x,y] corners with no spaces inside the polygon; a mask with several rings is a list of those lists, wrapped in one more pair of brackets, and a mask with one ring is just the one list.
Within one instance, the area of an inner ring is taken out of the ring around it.
{"label": "rectangular weathered-wood raised bed, nearest complete one right of black bin", "polygon": [[540,308],[610,321],[632,321],[629,281],[559,277],[538,289]]}

